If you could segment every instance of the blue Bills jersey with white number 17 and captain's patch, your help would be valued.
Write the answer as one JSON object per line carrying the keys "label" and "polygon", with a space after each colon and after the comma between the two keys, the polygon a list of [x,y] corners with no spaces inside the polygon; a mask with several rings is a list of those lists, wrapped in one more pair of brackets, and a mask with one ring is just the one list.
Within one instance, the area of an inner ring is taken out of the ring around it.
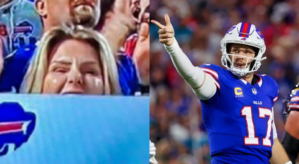
{"label": "blue Bills jersey with white number 17 and captain's patch", "polygon": [[214,64],[200,68],[217,87],[213,97],[201,100],[211,162],[268,164],[272,156],[272,107],[279,92],[277,83],[268,75],[255,75],[259,81],[252,85]]}

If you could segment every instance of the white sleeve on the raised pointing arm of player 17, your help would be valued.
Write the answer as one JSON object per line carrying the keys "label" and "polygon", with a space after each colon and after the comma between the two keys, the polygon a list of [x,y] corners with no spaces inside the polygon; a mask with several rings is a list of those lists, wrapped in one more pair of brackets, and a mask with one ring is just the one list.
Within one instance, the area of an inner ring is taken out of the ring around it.
{"label": "white sleeve on the raised pointing arm of player 17", "polygon": [[188,57],[179,47],[174,38],[171,46],[164,45],[170,55],[173,65],[182,78],[191,86],[193,92],[201,100],[208,100],[216,93],[216,84],[213,78],[202,71],[199,67],[193,66]]}

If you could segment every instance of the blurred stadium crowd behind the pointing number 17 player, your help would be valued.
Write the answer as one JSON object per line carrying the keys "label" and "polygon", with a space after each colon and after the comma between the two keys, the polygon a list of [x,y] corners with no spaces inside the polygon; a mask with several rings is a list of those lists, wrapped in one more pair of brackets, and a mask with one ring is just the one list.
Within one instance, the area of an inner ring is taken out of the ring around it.
{"label": "blurred stadium crowd behind the pointing number 17 player", "polygon": [[[150,1],[151,20],[165,24],[166,13],[176,40],[194,66],[222,66],[220,41],[233,25],[246,21],[259,28],[267,59],[256,73],[271,76],[280,87],[274,117],[282,140],[282,100],[299,82],[299,1]],[[200,101],[177,73],[157,32],[150,24],[150,140],[157,148],[156,158],[160,164],[210,163]]]}

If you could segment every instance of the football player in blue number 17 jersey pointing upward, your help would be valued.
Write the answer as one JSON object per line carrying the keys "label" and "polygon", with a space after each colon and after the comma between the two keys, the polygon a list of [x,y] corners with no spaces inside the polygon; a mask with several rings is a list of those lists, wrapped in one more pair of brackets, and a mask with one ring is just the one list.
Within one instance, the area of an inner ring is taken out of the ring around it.
{"label": "football player in blue number 17 jersey pointing upward", "polygon": [[211,163],[292,163],[277,139],[273,105],[278,85],[256,75],[266,50],[262,33],[250,23],[231,27],[221,41],[222,65],[192,65],[174,38],[170,18],[157,21],[160,42],[179,74],[201,101]]}

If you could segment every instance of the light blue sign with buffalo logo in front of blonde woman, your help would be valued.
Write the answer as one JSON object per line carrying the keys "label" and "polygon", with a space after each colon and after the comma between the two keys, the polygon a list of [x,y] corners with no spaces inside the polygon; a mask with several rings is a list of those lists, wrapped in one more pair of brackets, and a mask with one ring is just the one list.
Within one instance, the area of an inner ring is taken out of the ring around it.
{"label": "light blue sign with buffalo logo in front of blonde woman", "polygon": [[0,163],[148,163],[149,97],[0,95]]}

